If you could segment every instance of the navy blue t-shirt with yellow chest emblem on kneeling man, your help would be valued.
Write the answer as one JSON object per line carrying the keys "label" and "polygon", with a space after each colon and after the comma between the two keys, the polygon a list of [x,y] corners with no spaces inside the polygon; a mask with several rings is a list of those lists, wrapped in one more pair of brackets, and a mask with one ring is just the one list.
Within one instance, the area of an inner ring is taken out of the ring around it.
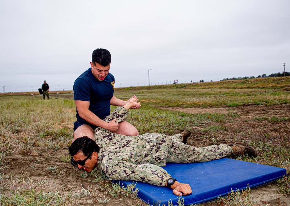
{"label": "navy blue t-shirt with yellow chest emblem on kneeling man", "polygon": [[[92,73],[92,68],[82,73],[73,85],[74,100],[89,101],[89,110],[101,120],[110,115],[110,100],[114,95],[115,78],[111,73],[103,81],[99,81]],[[77,121],[83,118],[77,112]]]}

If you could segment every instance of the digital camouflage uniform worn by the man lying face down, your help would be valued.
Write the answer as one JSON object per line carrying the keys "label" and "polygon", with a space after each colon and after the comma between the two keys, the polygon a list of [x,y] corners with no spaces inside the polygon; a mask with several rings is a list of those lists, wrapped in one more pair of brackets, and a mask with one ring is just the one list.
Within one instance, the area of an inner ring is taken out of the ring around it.
{"label": "digital camouflage uniform worn by the man lying face down", "polygon": [[[128,115],[124,107],[116,108],[104,121],[121,122]],[[232,154],[227,144],[192,147],[182,143],[182,135],[146,133],[127,136],[104,128],[95,129],[95,142],[99,145],[98,168],[110,180],[137,180],[165,186],[171,176],[161,167],[166,162],[190,163],[216,160]]]}

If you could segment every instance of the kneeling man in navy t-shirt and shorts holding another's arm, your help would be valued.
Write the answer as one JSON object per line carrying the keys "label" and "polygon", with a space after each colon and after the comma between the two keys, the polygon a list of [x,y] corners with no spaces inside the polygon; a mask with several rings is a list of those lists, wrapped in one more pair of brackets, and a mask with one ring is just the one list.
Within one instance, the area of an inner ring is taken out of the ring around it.
{"label": "kneeling man in navy t-shirt and shorts holding another's arm", "polygon": [[[75,80],[73,90],[77,121],[74,123],[72,142],[82,136],[94,140],[94,130],[97,127],[116,134],[133,136],[139,134],[138,130],[126,121],[117,123],[116,120],[110,122],[103,120],[110,115],[110,105],[124,106],[129,102],[114,96],[115,78],[109,73],[110,64],[110,52],[102,48],[96,49],[93,51],[91,67]],[[135,98],[135,95],[133,97]],[[140,102],[133,107],[133,109],[139,108]]]}

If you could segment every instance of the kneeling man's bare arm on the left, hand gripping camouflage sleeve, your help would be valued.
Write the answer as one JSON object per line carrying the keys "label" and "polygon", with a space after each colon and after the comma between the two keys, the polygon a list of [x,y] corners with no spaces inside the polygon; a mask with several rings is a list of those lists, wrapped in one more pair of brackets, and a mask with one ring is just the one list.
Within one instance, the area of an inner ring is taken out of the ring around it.
{"label": "kneeling man's bare arm on the left, hand gripping camouflage sleeve", "polygon": [[75,100],[75,105],[77,107],[77,111],[79,116],[86,120],[87,122],[107,129],[111,132],[115,132],[118,129],[119,124],[115,123],[116,120],[112,120],[109,123],[101,120],[97,115],[89,110],[90,102]]}

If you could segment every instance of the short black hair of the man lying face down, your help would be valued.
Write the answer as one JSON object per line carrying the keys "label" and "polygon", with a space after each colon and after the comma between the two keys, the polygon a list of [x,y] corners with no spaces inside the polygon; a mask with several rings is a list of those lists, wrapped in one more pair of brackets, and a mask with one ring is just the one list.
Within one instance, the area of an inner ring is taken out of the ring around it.
{"label": "short black hair of the man lying face down", "polygon": [[88,138],[87,136],[83,136],[77,138],[68,148],[70,151],[70,155],[74,156],[75,154],[79,153],[80,151],[84,153],[85,156],[89,156],[93,152],[99,153],[99,146],[97,143]]}

